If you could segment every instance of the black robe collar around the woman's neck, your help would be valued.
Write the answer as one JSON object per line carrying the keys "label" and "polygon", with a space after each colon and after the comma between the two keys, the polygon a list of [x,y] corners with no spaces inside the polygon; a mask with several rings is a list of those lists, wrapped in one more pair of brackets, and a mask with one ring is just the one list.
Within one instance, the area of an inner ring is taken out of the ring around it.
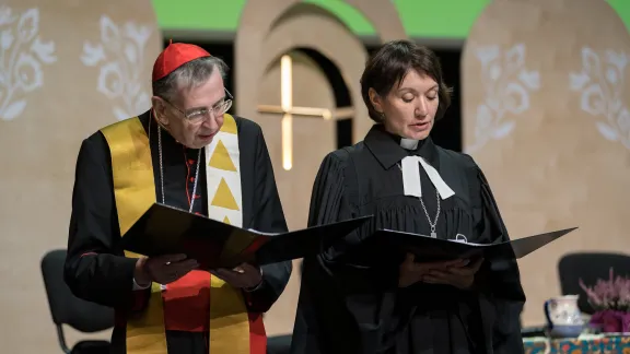
{"label": "black robe collar around the woman's neck", "polygon": [[413,151],[400,146],[400,137],[385,131],[382,125],[374,125],[365,137],[365,145],[385,169],[409,155],[423,157],[430,165],[438,168],[438,149],[430,137],[419,142]]}

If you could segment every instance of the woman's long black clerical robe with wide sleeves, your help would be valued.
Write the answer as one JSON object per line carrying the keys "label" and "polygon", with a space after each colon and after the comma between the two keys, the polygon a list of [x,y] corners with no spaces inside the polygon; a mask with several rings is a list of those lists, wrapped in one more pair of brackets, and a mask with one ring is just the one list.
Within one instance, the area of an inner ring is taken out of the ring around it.
{"label": "woman's long black clerical robe with wide sleeves", "polygon": [[[292,353],[523,353],[518,318],[525,295],[515,261],[483,263],[474,290],[425,283],[398,288],[402,255],[361,248],[376,228],[430,234],[420,199],[404,194],[400,162],[408,155],[423,157],[455,192],[441,200],[438,237],[508,240],[490,187],[471,157],[441,149],[430,138],[413,151],[400,148],[399,140],[375,126],[363,142],[322,163],[308,224],[374,217],[304,260]],[[433,221],[435,187],[423,169],[420,181]]]}

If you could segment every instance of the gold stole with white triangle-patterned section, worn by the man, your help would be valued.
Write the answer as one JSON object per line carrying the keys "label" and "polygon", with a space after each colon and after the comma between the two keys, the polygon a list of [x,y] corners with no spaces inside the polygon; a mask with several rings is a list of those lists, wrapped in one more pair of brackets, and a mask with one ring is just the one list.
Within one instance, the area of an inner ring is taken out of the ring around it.
{"label": "gold stole with white triangle-patterned section, worn by the man", "polygon": [[[155,203],[149,139],[137,117],[101,130],[112,154],[114,194],[125,233]],[[206,146],[209,217],[242,226],[242,193],[236,121],[224,115],[221,131]],[[234,158],[235,157],[235,158]],[[236,164],[234,164],[236,161]],[[126,257],[139,255],[125,252]],[[249,354],[249,319],[243,294],[210,276],[210,353]],[[167,287],[164,291],[168,291]],[[147,309],[127,319],[128,354],[166,354],[163,286],[151,285]]]}

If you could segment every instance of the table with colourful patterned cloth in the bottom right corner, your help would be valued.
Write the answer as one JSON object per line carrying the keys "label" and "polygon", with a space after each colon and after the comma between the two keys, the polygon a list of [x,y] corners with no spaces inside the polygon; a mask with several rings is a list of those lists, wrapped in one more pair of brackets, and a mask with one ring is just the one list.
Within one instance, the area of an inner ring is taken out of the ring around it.
{"label": "table with colourful patterned cloth in the bottom right corner", "polygon": [[527,338],[523,343],[525,354],[630,354],[629,333],[615,337],[584,334],[578,339],[559,340]]}

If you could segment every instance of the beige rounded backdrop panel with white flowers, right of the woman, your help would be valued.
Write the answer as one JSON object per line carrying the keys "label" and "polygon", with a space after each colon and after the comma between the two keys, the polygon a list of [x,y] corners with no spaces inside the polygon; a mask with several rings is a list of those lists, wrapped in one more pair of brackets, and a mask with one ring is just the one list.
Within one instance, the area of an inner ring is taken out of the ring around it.
{"label": "beige rounded backdrop panel with white flowers, right of the woman", "polygon": [[495,0],[463,56],[465,146],[512,238],[579,226],[520,264],[525,324],[572,251],[630,248],[630,40],[605,1]]}

